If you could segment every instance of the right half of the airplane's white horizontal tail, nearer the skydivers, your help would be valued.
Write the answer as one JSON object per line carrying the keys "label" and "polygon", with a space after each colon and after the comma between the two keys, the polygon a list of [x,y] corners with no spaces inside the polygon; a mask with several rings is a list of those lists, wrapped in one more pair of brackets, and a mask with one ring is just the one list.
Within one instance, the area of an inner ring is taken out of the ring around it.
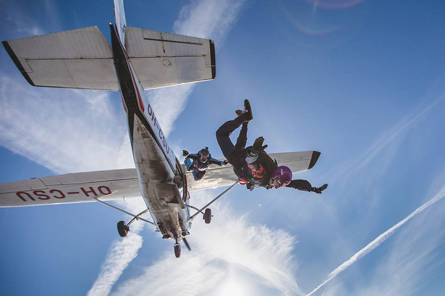
{"label": "right half of the airplane's white horizontal tail, nearer the skydivers", "polygon": [[125,27],[125,48],[144,89],[214,79],[212,40]]}

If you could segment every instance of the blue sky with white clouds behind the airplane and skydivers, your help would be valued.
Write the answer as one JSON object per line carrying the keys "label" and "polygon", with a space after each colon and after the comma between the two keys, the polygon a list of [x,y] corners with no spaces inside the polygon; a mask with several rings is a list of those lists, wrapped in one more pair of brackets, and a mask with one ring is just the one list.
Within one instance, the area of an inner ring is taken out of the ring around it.
{"label": "blue sky with white clouds behind the airplane and skydivers", "polygon": [[[1,40],[92,25],[109,40],[114,19],[110,0],[0,7]],[[263,135],[268,152],[321,151],[294,178],[329,188],[319,196],[236,187],[213,207],[210,225],[193,224],[193,251],[179,259],[148,226],[122,240],[116,222],[127,217],[103,205],[1,209],[2,295],[441,295],[444,3],[125,8],[130,26],[215,39],[216,80],[146,91],[177,154],[209,146],[221,157],[215,130],[247,97],[249,141]],[[32,87],[4,50],[0,60],[0,182],[132,166],[118,93]],[[221,190],[192,199],[201,205]]]}

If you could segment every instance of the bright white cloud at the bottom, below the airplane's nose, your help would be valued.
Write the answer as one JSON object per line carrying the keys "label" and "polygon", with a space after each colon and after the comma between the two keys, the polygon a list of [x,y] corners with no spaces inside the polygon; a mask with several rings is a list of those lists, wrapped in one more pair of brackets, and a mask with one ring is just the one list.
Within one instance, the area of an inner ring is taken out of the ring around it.
{"label": "bright white cloud at the bottom, below the airplane's nose", "polygon": [[[192,201],[204,204],[209,191],[193,192]],[[291,253],[295,238],[281,229],[252,225],[247,216],[234,216],[233,210],[214,204],[210,225],[198,216],[188,238],[192,251],[173,256],[173,248],[140,276],[117,287],[114,295],[217,295],[230,287],[264,286],[274,294],[296,295],[293,278],[296,263]],[[227,270],[234,274],[227,277]],[[166,276],[168,274],[168,276]],[[248,281],[240,278],[249,277]],[[253,285],[255,283],[255,285]],[[223,287],[225,288],[222,288]],[[261,292],[261,291],[259,291]]]}

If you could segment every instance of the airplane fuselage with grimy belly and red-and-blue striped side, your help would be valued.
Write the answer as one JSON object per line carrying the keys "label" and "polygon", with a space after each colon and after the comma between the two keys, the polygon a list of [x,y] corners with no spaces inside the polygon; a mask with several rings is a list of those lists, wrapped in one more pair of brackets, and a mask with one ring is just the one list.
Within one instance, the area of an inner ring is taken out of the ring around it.
{"label": "airplane fuselage with grimy belly and red-and-blue striped side", "polygon": [[115,27],[110,24],[110,28],[114,66],[127,115],[141,195],[163,237],[181,240],[189,233],[187,219],[190,214],[174,181],[182,177],[180,164],[152,105],[142,96],[143,88]]}

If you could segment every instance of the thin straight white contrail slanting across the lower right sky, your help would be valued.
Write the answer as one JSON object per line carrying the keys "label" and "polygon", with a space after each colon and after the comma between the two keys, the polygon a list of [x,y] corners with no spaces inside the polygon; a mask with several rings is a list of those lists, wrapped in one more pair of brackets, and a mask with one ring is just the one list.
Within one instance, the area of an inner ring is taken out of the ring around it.
{"label": "thin straight white contrail slanting across the lower right sky", "polygon": [[343,262],[340,266],[338,266],[337,268],[335,268],[327,277],[327,279],[321,283],[320,285],[318,285],[315,289],[313,289],[311,291],[311,293],[307,294],[306,296],[311,296],[312,294],[314,294],[315,292],[317,292],[318,289],[320,289],[321,287],[323,287],[327,282],[329,282],[330,280],[332,280],[333,278],[335,278],[340,272],[342,272],[343,270],[345,270],[346,268],[348,268],[350,265],[352,265],[354,262],[356,262],[358,259],[360,259],[361,257],[367,255],[369,252],[371,252],[372,250],[374,250],[375,248],[377,248],[381,243],[383,243],[387,238],[389,238],[399,227],[401,227],[403,224],[405,224],[408,220],[410,220],[412,217],[414,217],[415,215],[417,215],[418,213],[420,213],[421,211],[427,209],[428,207],[430,207],[431,205],[433,205],[434,203],[436,203],[437,201],[439,201],[440,199],[442,199],[445,196],[445,186],[442,187],[442,189],[432,198],[430,199],[428,202],[426,202],[425,204],[423,204],[422,206],[420,206],[419,208],[417,208],[415,211],[413,211],[412,213],[410,213],[408,216],[406,216],[403,220],[401,220],[399,223],[397,223],[396,225],[394,225],[393,227],[391,227],[390,229],[388,229],[387,231],[385,231],[384,233],[382,233],[381,235],[379,235],[376,239],[374,239],[372,242],[370,242],[369,244],[366,245],[366,247],[364,247],[363,249],[361,249],[360,251],[358,251],[356,254],[354,254],[351,258],[349,258],[348,260],[346,260],[345,262]]}

